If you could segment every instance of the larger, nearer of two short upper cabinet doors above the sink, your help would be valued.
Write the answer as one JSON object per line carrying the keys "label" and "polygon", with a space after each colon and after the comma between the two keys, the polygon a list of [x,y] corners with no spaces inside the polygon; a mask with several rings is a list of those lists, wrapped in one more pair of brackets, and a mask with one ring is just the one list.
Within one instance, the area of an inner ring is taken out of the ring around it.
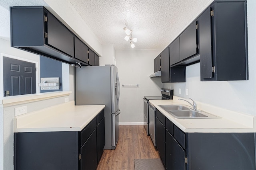
{"label": "larger, nearer of two short upper cabinet doors above the sink", "polygon": [[196,21],[194,21],[180,35],[180,61],[195,55],[196,53]]}

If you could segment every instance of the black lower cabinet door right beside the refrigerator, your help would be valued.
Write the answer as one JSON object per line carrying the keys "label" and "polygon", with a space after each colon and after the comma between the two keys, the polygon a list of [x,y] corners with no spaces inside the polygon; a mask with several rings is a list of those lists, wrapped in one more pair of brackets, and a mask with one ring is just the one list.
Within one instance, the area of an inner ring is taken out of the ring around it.
{"label": "black lower cabinet door right beside the refrigerator", "polygon": [[105,118],[100,121],[97,126],[97,164],[100,161],[100,157],[103,153],[103,148],[105,146]]}

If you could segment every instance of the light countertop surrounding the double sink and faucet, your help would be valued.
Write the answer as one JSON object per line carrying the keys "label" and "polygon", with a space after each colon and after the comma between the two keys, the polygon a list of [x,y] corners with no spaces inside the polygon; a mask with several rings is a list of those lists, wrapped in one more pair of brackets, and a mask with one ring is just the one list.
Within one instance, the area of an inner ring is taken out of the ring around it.
{"label": "light countertop surrounding the double sink and faucet", "polygon": [[[217,115],[221,118],[176,119],[170,113],[158,106],[168,104],[182,104],[187,105],[188,107],[192,107],[187,102],[178,100],[178,98],[179,97],[174,96],[173,100],[150,100],[150,103],[185,133],[256,132],[256,117],[253,115],[237,113],[208,104],[196,102],[198,109],[213,115]],[[190,99],[186,100],[189,101]]]}

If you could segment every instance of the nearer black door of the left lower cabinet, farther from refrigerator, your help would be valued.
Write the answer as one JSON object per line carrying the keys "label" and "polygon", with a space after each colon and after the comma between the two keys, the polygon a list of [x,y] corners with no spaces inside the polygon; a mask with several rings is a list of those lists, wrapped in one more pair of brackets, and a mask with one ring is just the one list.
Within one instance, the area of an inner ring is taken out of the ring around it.
{"label": "nearer black door of the left lower cabinet, farther from refrigerator", "polygon": [[97,168],[97,135],[96,129],[92,135],[88,138],[86,143],[81,147],[80,154],[80,169],[81,170],[93,170]]}

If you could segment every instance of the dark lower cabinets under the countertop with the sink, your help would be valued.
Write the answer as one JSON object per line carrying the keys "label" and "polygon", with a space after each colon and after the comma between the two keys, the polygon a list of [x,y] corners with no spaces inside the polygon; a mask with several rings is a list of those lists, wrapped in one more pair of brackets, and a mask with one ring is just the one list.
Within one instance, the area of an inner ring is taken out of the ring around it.
{"label": "dark lower cabinets under the countertop with the sink", "polygon": [[184,133],[156,113],[156,147],[167,170],[255,170],[255,133]]}

